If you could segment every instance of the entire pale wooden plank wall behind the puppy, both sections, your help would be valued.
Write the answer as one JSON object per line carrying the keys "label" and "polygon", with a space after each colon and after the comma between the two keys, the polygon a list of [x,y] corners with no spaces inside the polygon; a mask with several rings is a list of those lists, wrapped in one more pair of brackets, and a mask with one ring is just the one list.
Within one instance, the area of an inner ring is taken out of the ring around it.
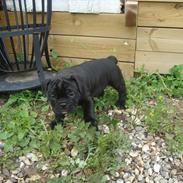
{"label": "entire pale wooden plank wall behind the puppy, both sections", "polygon": [[183,0],[172,1],[139,0],[136,27],[125,26],[125,14],[54,12],[49,48],[73,64],[114,55],[125,78],[142,66],[167,73],[183,64]]}

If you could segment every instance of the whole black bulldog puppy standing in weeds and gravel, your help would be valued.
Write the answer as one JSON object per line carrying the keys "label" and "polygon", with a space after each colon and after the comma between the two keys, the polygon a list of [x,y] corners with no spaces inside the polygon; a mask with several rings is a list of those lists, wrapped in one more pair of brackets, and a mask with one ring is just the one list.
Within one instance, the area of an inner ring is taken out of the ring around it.
{"label": "whole black bulldog puppy standing in weeds and gravel", "polygon": [[117,62],[114,56],[88,61],[46,80],[48,101],[55,113],[52,129],[58,123],[63,124],[64,115],[73,111],[77,105],[83,107],[84,120],[97,128],[93,98],[103,95],[106,86],[112,86],[118,91],[116,105],[125,108],[126,86]]}

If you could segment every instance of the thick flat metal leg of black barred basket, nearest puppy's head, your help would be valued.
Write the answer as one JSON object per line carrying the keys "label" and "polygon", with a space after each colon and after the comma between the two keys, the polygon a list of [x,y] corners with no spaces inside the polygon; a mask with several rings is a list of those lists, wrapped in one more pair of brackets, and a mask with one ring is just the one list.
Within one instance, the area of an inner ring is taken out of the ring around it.
{"label": "thick flat metal leg of black barred basket, nearest puppy's head", "polygon": [[43,67],[42,67],[42,63],[41,63],[39,33],[34,33],[33,42],[34,42],[34,48],[35,48],[35,63],[36,63],[37,73],[38,73],[38,76],[39,76],[39,80],[40,80],[40,83],[41,83],[43,93],[45,93],[44,86],[43,86],[43,84],[45,82],[45,76],[44,76],[44,71],[43,71]]}

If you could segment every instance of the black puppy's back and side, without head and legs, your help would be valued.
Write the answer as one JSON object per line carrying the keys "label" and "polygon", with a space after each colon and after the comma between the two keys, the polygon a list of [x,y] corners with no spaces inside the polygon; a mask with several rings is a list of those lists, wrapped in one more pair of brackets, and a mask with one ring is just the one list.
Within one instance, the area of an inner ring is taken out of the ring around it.
{"label": "black puppy's back and side, without head and legs", "polygon": [[114,80],[121,82],[122,74],[117,62],[114,56],[96,59],[65,69],[61,75],[74,77],[79,75],[90,94],[93,97],[99,96],[107,85],[112,85]]}

